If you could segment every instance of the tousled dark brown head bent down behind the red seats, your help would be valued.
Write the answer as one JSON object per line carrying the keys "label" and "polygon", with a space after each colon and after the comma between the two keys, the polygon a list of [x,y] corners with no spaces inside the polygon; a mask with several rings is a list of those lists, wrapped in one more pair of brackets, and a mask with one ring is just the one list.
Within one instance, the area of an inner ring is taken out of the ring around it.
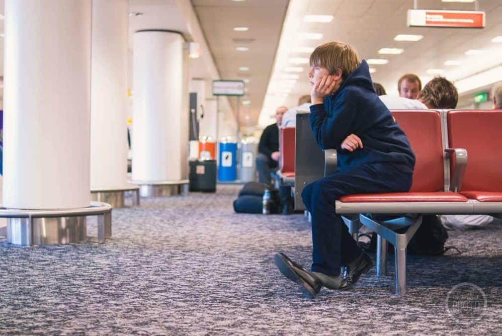
{"label": "tousled dark brown head bent down behind the red seats", "polygon": [[457,107],[458,91],[445,77],[434,77],[417,97],[430,109],[454,109]]}

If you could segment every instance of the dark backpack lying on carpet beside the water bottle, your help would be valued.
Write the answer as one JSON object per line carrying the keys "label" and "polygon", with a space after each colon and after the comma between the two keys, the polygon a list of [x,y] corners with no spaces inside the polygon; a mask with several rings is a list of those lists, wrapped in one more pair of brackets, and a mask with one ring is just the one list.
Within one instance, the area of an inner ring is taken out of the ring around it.
{"label": "dark backpack lying on carpet beside the water bottle", "polygon": [[263,194],[266,189],[270,190],[270,213],[279,213],[281,210],[279,191],[258,182],[248,182],[244,185],[237,199],[233,201],[233,210],[238,213],[262,213]]}

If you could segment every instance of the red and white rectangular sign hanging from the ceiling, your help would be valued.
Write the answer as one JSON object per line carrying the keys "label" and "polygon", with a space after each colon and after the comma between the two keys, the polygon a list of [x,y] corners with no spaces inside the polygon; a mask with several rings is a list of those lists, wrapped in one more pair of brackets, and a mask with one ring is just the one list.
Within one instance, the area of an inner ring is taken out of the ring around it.
{"label": "red and white rectangular sign hanging from the ceiling", "polygon": [[480,11],[408,10],[408,27],[484,28]]}

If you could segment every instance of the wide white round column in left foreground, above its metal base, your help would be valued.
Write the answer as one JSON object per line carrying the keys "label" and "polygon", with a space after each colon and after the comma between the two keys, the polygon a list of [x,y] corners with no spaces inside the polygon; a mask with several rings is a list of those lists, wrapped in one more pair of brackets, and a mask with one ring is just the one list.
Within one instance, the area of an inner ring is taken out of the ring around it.
{"label": "wide white round column in left foreground, above its metal base", "polygon": [[92,0],[5,0],[7,208],[88,207]]}

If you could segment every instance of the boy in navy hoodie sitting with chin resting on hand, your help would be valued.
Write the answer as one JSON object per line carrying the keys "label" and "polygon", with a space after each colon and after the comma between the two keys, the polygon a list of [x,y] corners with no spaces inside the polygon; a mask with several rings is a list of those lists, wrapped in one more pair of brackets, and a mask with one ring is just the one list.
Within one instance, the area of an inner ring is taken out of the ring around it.
{"label": "boy in navy hoodie sitting with chin resting on hand", "polygon": [[351,194],[409,191],[415,156],[354,48],[342,42],[318,46],[308,76],[312,132],[322,149],[337,149],[338,171],[302,192],[312,216],[311,271],[282,253],[275,263],[306,297],[315,298],[322,286],[352,288],[373,266],[334,212],[335,201]]}

